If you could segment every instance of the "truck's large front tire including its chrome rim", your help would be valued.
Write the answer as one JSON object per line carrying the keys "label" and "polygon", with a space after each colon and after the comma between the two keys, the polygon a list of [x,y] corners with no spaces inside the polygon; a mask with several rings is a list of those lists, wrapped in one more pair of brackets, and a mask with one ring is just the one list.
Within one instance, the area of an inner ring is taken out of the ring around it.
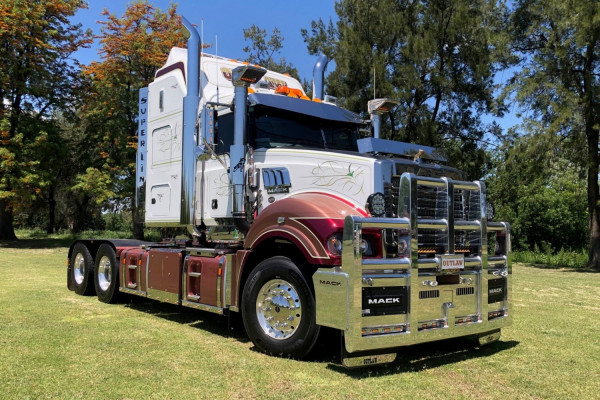
{"label": "truck's large front tire including its chrome rim", "polygon": [[319,336],[313,292],[306,277],[287,257],[272,257],[251,273],[242,293],[242,319],[261,351],[302,358]]}

